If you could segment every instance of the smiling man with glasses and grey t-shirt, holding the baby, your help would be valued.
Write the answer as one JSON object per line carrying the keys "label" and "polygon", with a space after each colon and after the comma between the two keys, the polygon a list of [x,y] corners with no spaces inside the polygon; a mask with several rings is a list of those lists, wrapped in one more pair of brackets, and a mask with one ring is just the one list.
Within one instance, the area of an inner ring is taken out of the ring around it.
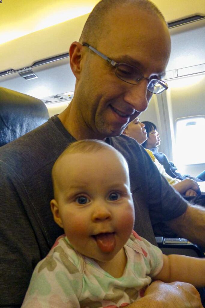
{"label": "smiling man with glasses and grey t-shirt, holding the baby", "polygon": [[[49,207],[51,170],[76,140],[103,140],[127,160],[137,233],[157,245],[152,225],[164,221],[181,237],[205,247],[205,209],[175,193],[144,149],[121,135],[148,107],[152,95],[167,89],[161,79],[170,49],[168,26],[152,2],[102,0],[89,15],[79,42],[69,49],[76,77],[72,102],[58,116],[0,148],[0,307],[21,306],[36,264],[63,233]],[[194,286],[159,281],[148,286],[139,305],[132,305],[202,307]]]}

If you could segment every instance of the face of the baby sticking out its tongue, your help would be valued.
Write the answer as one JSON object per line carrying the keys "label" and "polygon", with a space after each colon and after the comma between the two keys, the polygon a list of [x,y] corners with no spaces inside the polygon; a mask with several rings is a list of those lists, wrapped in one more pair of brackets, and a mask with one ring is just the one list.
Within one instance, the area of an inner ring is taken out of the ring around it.
{"label": "face of the baby sticking out its tongue", "polygon": [[124,161],[105,149],[66,155],[58,167],[56,205],[51,202],[55,221],[78,252],[96,261],[111,260],[134,224]]}

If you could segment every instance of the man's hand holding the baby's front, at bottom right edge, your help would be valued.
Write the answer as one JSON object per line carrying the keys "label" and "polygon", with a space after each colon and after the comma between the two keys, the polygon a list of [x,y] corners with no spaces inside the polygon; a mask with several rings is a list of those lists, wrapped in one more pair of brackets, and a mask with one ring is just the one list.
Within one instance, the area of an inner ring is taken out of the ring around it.
{"label": "man's hand holding the baby's front, at bottom right edge", "polygon": [[152,282],[144,297],[129,308],[203,308],[199,292],[189,283]]}

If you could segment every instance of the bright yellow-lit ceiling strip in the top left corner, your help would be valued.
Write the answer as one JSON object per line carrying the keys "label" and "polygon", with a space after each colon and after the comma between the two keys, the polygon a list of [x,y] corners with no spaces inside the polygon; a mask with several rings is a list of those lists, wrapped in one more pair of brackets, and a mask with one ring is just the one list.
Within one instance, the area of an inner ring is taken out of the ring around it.
{"label": "bright yellow-lit ceiling strip in the top left corner", "polygon": [[3,0],[0,43],[89,13],[98,0]]}

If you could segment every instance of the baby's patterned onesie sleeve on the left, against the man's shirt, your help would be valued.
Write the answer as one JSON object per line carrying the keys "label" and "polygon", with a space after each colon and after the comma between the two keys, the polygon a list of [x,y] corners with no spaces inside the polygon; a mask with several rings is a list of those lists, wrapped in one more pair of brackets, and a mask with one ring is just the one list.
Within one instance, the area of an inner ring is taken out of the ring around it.
{"label": "baby's patterned onesie sleeve on the left, against the man's shirt", "polygon": [[67,247],[64,239],[61,240],[63,245],[54,244],[48,256],[37,264],[22,308],[80,308],[82,274],[77,266],[79,262],[75,260],[76,253]]}

